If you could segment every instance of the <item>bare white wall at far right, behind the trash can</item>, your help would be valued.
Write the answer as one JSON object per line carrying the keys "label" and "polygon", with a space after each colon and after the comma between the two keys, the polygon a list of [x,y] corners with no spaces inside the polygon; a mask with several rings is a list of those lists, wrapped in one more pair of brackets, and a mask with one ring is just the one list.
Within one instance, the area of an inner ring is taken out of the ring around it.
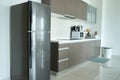
{"label": "bare white wall at far right, behind the trash can", "polygon": [[120,55],[120,0],[103,0],[102,46],[111,46]]}

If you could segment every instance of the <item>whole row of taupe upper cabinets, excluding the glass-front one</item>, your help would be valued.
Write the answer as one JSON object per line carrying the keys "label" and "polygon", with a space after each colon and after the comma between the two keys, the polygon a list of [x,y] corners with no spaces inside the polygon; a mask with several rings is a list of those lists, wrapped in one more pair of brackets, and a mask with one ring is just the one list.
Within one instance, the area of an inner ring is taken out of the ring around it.
{"label": "whole row of taupe upper cabinets, excluding the glass-front one", "polygon": [[87,20],[87,3],[81,0],[51,0],[51,11],[68,17]]}

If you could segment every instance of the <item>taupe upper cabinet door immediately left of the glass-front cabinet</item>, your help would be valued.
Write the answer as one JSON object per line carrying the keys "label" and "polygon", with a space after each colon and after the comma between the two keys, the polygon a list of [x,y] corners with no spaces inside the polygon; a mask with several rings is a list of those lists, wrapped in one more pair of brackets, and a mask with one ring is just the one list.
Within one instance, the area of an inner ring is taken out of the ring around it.
{"label": "taupe upper cabinet door immediately left of the glass-front cabinet", "polygon": [[87,3],[76,0],[75,16],[82,20],[87,20]]}

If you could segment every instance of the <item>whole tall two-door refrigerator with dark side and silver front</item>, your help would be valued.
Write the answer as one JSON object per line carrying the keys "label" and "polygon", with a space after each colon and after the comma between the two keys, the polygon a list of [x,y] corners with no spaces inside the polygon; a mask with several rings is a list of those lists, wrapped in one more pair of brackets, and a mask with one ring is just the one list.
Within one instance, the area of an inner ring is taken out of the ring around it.
{"label": "whole tall two-door refrigerator with dark side and silver front", "polygon": [[50,7],[28,1],[10,8],[11,80],[50,79]]}

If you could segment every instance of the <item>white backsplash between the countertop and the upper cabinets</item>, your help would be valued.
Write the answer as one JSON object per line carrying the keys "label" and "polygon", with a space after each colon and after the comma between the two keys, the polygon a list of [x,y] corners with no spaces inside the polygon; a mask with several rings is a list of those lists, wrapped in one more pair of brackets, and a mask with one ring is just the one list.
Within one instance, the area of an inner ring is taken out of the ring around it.
{"label": "white backsplash between the countertop and the upper cabinets", "polygon": [[51,14],[51,39],[70,38],[70,28],[74,25],[82,25],[84,30],[90,29],[91,34],[95,31],[98,32],[98,36],[101,34],[101,27],[97,24],[89,24],[82,20],[66,19],[58,14]]}

